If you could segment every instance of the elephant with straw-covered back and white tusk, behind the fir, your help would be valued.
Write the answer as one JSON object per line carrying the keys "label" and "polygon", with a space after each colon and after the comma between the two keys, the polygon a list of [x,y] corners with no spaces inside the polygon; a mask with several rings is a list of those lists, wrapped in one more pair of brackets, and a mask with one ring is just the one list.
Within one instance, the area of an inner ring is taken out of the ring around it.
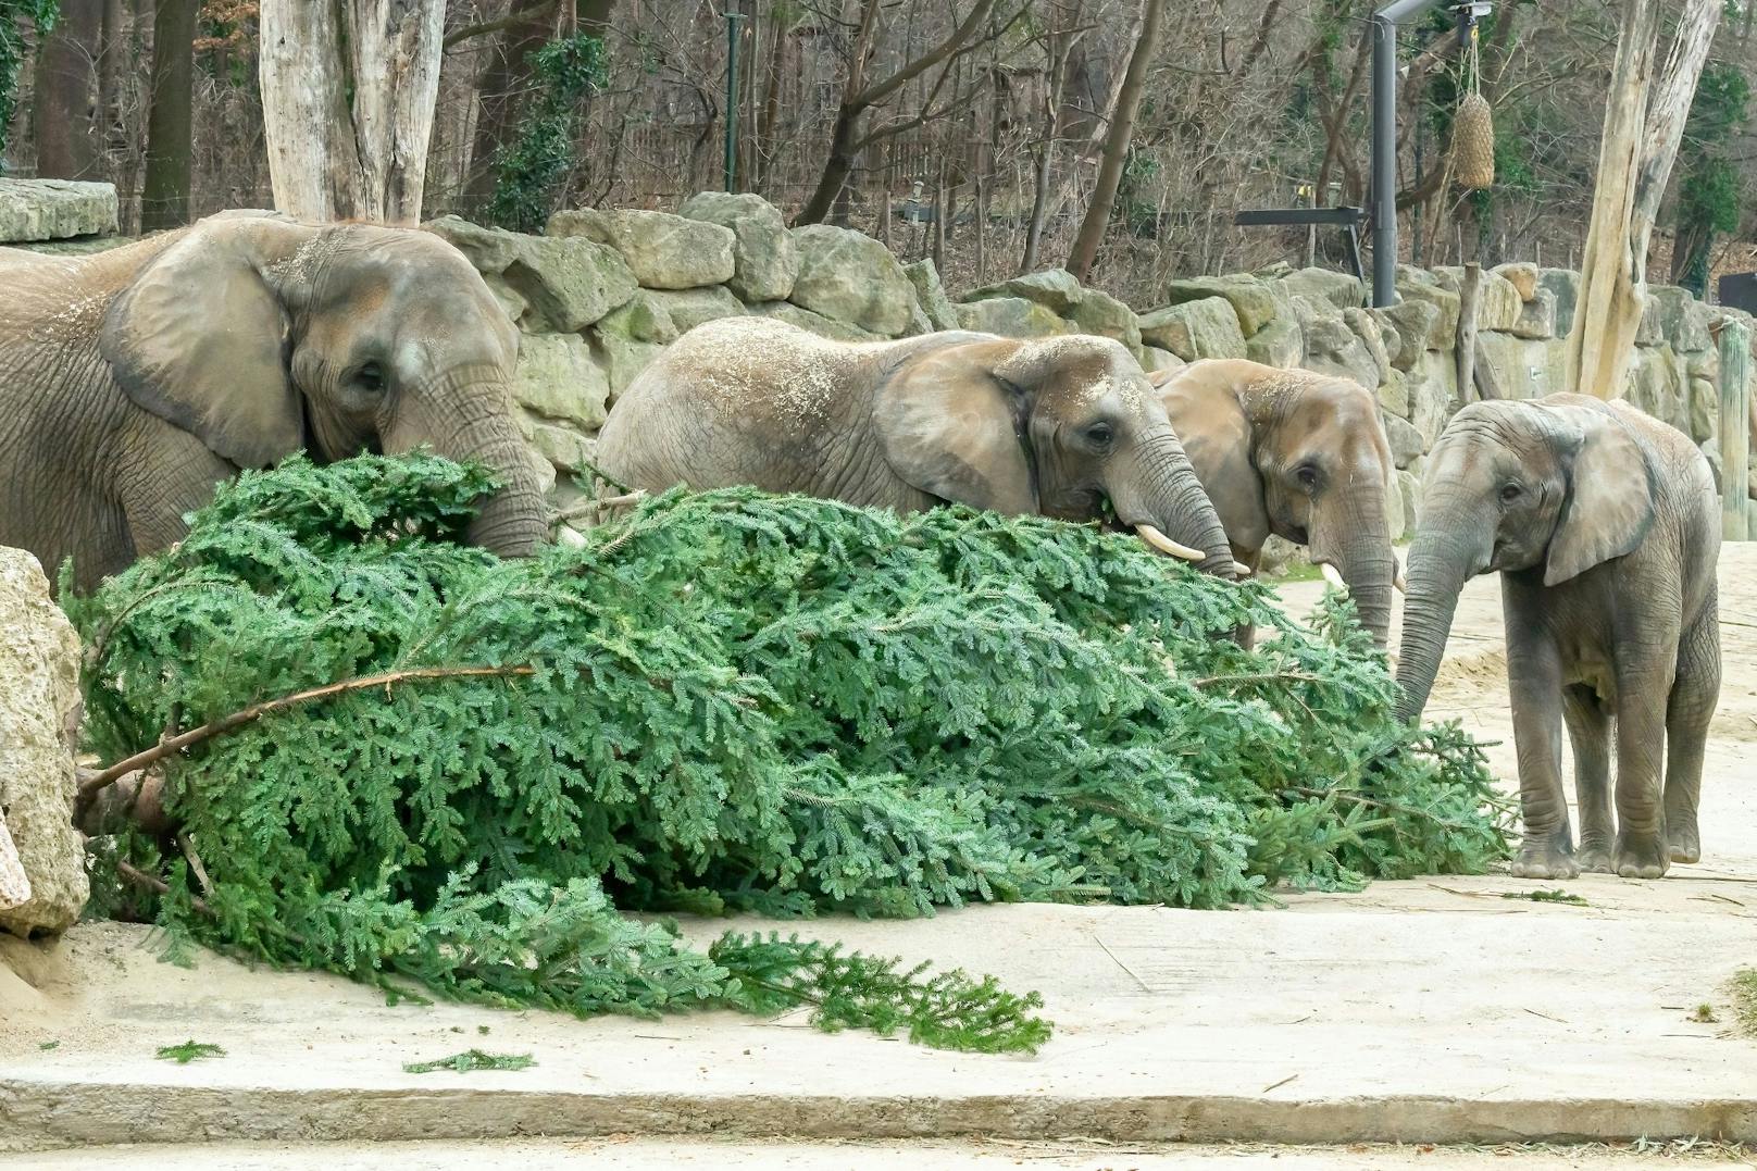
{"label": "elephant with straw-covered back and white tusk, behind the fir", "polygon": [[634,380],[597,459],[638,489],[752,484],[898,512],[956,501],[1091,520],[1109,501],[1160,552],[1235,577],[1165,408],[1109,338],[843,343],[722,318]]}

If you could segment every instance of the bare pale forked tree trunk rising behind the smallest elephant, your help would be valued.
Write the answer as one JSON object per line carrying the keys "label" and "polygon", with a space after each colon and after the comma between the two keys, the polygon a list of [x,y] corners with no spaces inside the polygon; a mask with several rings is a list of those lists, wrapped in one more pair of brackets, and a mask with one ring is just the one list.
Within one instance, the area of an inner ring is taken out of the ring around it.
{"label": "bare pale forked tree trunk rising behind the smallest elephant", "polygon": [[1580,309],[1567,332],[1567,385],[1601,399],[1623,392],[1646,302],[1648,237],[1722,2],[1685,0],[1662,65],[1659,9],[1653,0],[1623,0],[1580,265]]}

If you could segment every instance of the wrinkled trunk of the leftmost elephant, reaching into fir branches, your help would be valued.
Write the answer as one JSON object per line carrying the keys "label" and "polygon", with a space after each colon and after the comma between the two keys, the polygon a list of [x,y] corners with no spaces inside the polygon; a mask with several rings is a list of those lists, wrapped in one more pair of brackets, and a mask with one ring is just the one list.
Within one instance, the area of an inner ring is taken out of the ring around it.
{"label": "wrinkled trunk of the leftmost elephant, reaching into fir branches", "polygon": [[531,556],[548,535],[546,505],[504,378],[430,390],[409,396],[385,436],[385,450],[408,452],[425,443],[448,459],[483,464],[501,487],[471,520],[466,540],[503,557]]}

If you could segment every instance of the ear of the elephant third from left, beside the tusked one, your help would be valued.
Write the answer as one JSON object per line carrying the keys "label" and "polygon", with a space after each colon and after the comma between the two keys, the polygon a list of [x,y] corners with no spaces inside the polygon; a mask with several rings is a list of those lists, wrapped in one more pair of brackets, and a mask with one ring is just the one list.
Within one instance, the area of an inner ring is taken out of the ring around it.
{"label": "ear of the elephant third from left, beside the tusked one", "polygon": [[1225,366],[1204,359],[1151,382],[1226,540],[1239,549],[1262,549],[1269,540],[1269,503],[1254,461],[1256,431],[1244,413],[1239,376]]}

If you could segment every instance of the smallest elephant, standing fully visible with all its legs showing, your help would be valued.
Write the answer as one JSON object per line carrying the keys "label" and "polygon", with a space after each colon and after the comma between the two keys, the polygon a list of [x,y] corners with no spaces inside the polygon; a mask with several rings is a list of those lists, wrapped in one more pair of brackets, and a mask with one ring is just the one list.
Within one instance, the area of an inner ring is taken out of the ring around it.
{"label": "smallest elephant, standing fully visible with all its legs showing", "polygon": [[1525,811],[1513,874],[1659,877],[1667,862],[1701,856],[1696,802],[1720,693],[1718,554],[1708,461],[1623,403],[1474,403],[1441,433],[1409,550],[1399,714],[1413,719],[1427,703],[1464,582],[1499,570]]}

